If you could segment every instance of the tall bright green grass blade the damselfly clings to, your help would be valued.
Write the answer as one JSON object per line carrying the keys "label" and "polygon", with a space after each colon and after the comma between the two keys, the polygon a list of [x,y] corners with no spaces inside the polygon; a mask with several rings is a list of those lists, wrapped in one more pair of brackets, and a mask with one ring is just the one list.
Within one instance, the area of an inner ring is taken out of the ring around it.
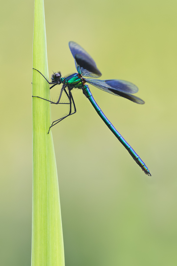
{"label": "tall bright green grass blade the damselfly clings to", "polygon": [[[48,79],[43,0],[35,0],[33,68]],[[33,69],[32,95],[50,99],[49,84]],[[64,246],[58,176],[51,125],[50,103],[32,98],[33,196],[32,266],[64,266]]]}

